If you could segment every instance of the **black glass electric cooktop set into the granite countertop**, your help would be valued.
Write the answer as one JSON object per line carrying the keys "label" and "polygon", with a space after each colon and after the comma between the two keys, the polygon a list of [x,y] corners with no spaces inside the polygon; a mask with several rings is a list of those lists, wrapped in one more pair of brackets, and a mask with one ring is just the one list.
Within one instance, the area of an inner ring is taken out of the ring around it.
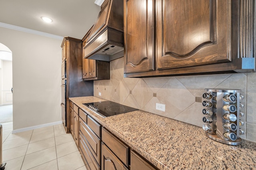
{"label": "black glass electric cooktop set into the granite countertop", "polygon": [[89,107],[91,110],[95,111],[102,117],[108,117],[138,110],[136,108],[124,106],[122,104],[111,101],[84,103],[84,105]]}

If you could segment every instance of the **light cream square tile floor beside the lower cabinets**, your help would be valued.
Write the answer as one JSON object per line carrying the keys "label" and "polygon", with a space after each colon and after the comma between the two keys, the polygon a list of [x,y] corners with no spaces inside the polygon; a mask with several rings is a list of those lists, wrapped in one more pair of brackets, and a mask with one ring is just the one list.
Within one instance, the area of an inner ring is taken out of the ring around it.
{"label": "light cream square tile floor beside the lower cabinets", "polygon": [[12,134],[3,127],[2,162],[6,170],[86,170],[71,134],[62,124]]}

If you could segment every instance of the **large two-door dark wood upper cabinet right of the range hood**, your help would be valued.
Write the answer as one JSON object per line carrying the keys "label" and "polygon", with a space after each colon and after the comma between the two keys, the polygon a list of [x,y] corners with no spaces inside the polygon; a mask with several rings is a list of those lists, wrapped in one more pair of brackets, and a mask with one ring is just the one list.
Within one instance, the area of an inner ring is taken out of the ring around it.
{"label": "large two-door dark wood upper cabinet right of the range hood", "polygon": [[124,3],[124,77],[256,71],[255,0]]}

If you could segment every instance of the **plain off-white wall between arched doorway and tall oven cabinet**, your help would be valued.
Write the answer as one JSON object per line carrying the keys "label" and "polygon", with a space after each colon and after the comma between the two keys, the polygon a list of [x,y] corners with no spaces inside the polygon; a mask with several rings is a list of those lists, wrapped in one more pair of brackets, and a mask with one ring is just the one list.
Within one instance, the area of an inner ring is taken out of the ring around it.
{"label": "plain off-white wall between arched doorway and tall oven cabinet", "polygon": [[62,40],[0,27],[12,51],[13,129],[61,121]]}

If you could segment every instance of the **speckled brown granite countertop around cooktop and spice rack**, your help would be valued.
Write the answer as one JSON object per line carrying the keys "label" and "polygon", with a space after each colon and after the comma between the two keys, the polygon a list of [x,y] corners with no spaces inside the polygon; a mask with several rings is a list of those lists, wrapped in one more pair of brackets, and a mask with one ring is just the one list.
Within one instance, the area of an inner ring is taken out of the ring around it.
{"label": "speckled brown granite countertop around cooktop and spice rack", "polygon": [[206,137],[201,127],[142,110],[100,117],[83,103],[106,101],[94,96],[70,98],[103,127],[160,170],[248,169],[256,167],[256,143],[226,145]]}

